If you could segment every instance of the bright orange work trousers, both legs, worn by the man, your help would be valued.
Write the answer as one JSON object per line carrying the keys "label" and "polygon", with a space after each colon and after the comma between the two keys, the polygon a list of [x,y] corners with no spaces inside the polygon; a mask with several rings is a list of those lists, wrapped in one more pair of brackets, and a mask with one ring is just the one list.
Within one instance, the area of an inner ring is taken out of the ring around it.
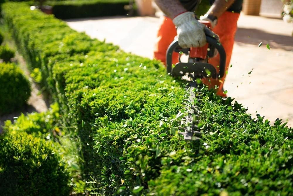
{"label": "bright orange work trousers, both legs, worn by the man", "polygon": [[[239,13],[232,13],[230,11],[224,12],[222,16],[219,17],[218,24],[213,29],[214,33],[219,35],[220,42],[226,51],[225,70],[228,70],[230,65],[230,59],[234,45],[234,36],[237,30],[237,21],[239,15]],[[168,17],[162,17],[161,26],[158,31],[154,49],[154,58],[161,60],[164,64],[166,64],[166,51],[176,35],[176,28],[172,20]],[[209,63],[211,63],[217,69],[217,71],[219,71],[219,68],[217,68],[219,65],[219,58],[219,55],[213,58],[209,58]],[[172,56],[172,63],[176,64],[177,62],[178,54],[174,53]],[[219,87],[217,94],[224,97],[225,95],[223,93],[223,84],[225,77],[226,73],[223,78],[221,78],[221,80],[209,78],[211,80],[210,82],[208,79],[202,79],[202,82],[207,84],[210,88],[213,88],[215,85],[217,85]]]}

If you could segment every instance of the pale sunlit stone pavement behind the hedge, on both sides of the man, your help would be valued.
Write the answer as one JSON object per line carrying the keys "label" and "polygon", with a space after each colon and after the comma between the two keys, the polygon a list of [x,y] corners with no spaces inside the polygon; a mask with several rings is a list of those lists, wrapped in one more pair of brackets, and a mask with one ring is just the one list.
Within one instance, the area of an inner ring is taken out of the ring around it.
{"label": "pale sunlit stone pavement behind the hedge, on both sides of the man", "polygon": [[[92,38],[119,45],[124,51],[153,58],[160,19],[108,17],[67,21]],[[256,113],[293,127],[293,25],[281,19],[241,15],[231,64],[224,85],[228,95]],[[263,45],[258,47],[262,42]],[[269,43],[270,50],[266,48]],[[251,74],[248,74],[252,70]]]}

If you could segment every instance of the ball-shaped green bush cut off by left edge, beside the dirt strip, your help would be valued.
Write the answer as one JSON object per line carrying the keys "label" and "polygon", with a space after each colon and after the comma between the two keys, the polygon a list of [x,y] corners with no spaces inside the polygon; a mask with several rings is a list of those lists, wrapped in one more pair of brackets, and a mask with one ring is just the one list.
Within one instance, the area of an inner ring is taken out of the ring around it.
{"label": "ball-shaped green bush cut off by left edge, beside the dirt strip", "polygon": [[13,63],[0,63],[0,114],[19,110],[30,97],[30,83]]}

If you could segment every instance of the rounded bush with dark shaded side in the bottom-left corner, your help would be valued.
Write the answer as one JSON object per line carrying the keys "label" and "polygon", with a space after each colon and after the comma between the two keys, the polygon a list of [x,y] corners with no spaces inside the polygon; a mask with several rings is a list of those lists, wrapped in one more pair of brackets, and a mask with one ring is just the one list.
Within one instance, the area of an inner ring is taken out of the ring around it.
{"label": "rounded bush with dark shaded side in the bottom-left corner", "polygon": [[9,131],[0,147],[1,195],[69,195],[69,175],[50,142]]}

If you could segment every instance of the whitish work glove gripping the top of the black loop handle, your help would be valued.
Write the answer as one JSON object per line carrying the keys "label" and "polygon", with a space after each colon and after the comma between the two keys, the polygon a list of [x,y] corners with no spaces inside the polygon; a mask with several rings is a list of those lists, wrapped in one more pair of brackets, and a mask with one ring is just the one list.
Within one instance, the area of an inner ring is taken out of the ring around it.
{"label": "whitish work glove gripping the top of the black loop handle", "polygon": [[193,12],[184,12],[173,19],[173,23],[177,26],[178,44],[182,48],[202,47],[207,43],[201,24],[195,19]]}

